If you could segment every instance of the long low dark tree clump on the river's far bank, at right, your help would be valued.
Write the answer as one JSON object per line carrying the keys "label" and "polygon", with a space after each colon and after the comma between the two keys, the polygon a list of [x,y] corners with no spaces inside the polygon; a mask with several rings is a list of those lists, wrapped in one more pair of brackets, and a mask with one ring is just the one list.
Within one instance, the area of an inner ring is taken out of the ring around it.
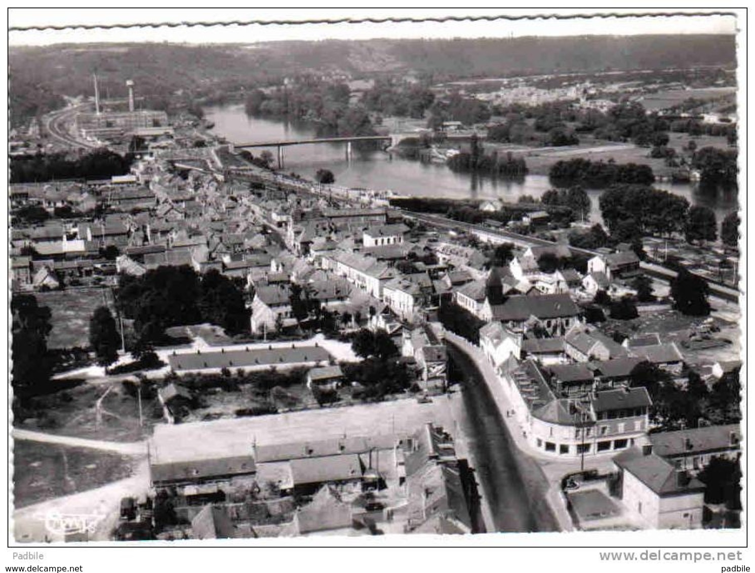
{"label": "long low dark tree clump on the river's far bank, at right", "polygon": [[583,158],[557,161],[551,165],[548,175],[550,180],[560,185],[584,185],[597,188],[615,183],[648,185],[655,181],[653,170],[649,165],[593,162]]}

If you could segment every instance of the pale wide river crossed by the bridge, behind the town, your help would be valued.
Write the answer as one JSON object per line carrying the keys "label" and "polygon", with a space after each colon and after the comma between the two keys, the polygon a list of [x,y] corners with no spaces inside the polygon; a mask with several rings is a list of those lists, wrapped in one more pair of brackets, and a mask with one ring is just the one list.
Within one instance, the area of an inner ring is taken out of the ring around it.
{"label": "pale wide river crossed by the bridge, behind the town", "polygon": [[[212,133],[233,143],[257,141],[313,139],[313,125],[277,119],[249,117],[242,105],[205,108],[205,117],[214,122]],[[276,149],[270,149],[273,153]],[[251,149],[257,155],[262,149]],[[451,171],[443,164],[402,159],[383,151],[355,149],[353,158],[346,157],[344,143],[316,143],[284,148],[284,171],[312,179],[318,169],[327,168],[335,175],[336,183],[365,189],[390,189],[406,196],[445,197],[450,199],[501,199],[516,202],[522,195],[535,198],[552,188],[545,175],[528,175],[523,181],[487,177]],[[736,193],[700,193],[698,186],[681,183],[656,183],[686,197],[692,205],[706,205],[715,211],[720,222],[738,208]],[[590,220],[601,220],[598,208],[599,189],[587,189],[592,199]]]}

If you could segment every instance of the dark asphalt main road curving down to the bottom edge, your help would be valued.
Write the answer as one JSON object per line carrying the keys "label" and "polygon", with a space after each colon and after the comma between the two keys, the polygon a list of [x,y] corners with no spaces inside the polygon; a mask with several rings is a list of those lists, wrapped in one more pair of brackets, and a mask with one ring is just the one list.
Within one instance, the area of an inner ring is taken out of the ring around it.
{"label": "dark asphalt main road curving down to the bottom edge", "polygon": [[460,373],[464,435],[496,531],[559,531],[547,502],[549,483],[538,464],[516,447],[482,373],[454,345],[448,344],[448,353]]}

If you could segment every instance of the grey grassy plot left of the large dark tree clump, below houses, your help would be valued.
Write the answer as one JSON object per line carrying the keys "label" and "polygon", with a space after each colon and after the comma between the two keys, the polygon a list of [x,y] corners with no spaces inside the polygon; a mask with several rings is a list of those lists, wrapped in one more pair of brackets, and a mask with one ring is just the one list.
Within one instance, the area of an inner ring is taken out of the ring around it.
{"label": "grey grassy plot left of the large dark tree clump, below houses", "polygon": [[114,310],[109,288],[69,288],[36,293],[40,306],[50,307],[52,330],[49,348],[89,346],[89,319],[94,310],[107,304]]}

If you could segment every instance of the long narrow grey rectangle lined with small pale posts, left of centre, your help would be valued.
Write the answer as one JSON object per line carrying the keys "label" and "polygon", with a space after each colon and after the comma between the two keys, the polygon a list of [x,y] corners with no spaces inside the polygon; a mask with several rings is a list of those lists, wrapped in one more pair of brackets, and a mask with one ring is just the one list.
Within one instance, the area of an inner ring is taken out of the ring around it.
{"label": "long narrow grey rectangle lined with small pale posts, left of centre", "polygon": [[168,356],[168,364],[177,374],[221,368],[292,368],[328,364],[331,355],[322,347],[263,348],[231,352],[183,353]]}

